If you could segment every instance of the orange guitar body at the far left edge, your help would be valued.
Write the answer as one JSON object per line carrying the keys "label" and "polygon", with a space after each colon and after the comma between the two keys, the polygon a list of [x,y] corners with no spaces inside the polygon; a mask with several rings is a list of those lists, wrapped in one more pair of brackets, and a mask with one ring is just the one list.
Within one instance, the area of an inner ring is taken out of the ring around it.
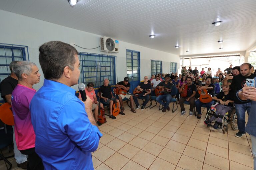
{"label": "orange guitar body at the far left edge", "polygon": [[0,119],[6,125],[14,125],[14,118],[11,110],[11,105],[9,103],[5,103],[0,106]]}

